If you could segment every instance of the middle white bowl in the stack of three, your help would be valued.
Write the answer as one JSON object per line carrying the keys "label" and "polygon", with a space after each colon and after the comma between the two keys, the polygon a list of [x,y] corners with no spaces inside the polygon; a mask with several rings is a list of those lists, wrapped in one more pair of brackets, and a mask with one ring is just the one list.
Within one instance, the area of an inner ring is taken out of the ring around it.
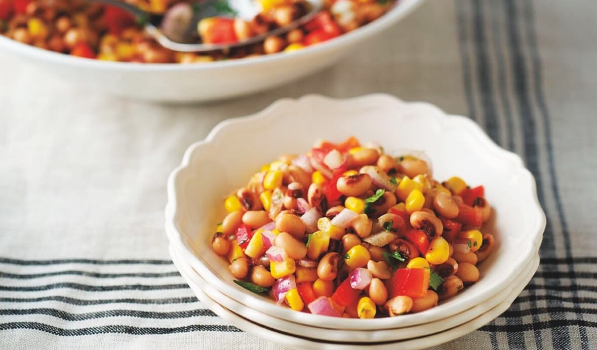
{"label": "middle white bowl in the stack of three", "polygon": [[460,314],[451,317],[435,320],[430,323],[419,324],[417,326],[383,329],[383,330],[340,330],[321,328],[314,324],[307,326],[299,323],[291,323],[289,321],[281,320],[270,315],[263,314],[256,309],[247,305],[242,305],[236,300],[221,294],[220,291],[213,288],[209,283],[199,275],[189,263],[180,256],[180,253],[170,245],[170,256],[173,259],[174,265],[179,269],[181,275],[185,275],[192,280],[195,287],[201,289],[210,299],[219,303],[224,308],[238,314],[241,317],[253,320],[255,323],[265,327],[275,327],[276,330],[283,333],[293,334],[294,336],[306,337],[310,339],[324,340],[325,342],[347,342],[347,343],[367,343],[367,342],[388,342],[395,340],[412,339],[416,337],[424,337],[429,334],[438,333],[440,331],[448,330],[450,328],[460,326],[473,318],[479,317],[490,309],[495,308],[515,290],[519,285],[527,285],[528,276],[532,276],[538,266],[537,256],[534,256],[521,274],[516,276],[512,283],[504,286],[503,290],[496,296],[479,305],[472,305],[470,309],[460,312]]}

